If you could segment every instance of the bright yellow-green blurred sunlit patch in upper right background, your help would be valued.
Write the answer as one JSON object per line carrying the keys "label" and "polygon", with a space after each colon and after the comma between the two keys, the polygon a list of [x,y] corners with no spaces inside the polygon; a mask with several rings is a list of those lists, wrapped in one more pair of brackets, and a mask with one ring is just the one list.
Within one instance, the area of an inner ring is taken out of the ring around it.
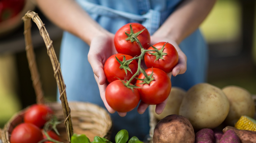
{"label": "bright yellow-green blurred sunlit patch in upper right background", "polygon": [[240,34],[240,7],[237,1],[218,0],[200,26],[208,43],[230,41]]}

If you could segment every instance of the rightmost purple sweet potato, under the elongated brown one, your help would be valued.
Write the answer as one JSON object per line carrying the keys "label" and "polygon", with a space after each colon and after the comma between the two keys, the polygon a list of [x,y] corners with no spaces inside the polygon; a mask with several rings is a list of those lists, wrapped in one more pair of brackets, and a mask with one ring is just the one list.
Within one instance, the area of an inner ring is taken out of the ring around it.
{"label": "rightmost purple sweet potato, under the elongated brown one", "polygon": [[223,134],[219,143],[241,143],[235,131],[228,130]]}

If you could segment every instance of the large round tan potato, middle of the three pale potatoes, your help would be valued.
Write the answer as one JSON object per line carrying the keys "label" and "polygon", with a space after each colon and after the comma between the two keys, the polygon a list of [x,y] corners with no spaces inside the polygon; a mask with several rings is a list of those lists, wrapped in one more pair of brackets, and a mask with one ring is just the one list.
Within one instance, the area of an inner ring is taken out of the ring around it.
{"label": "large round tan potato, middle of the three pale potatoes", "polygon": [[223,91],[208,83],[191,87],[183,97],[179,115],[190,121],[195,130],[215,128],[225,120],[229,101]]}

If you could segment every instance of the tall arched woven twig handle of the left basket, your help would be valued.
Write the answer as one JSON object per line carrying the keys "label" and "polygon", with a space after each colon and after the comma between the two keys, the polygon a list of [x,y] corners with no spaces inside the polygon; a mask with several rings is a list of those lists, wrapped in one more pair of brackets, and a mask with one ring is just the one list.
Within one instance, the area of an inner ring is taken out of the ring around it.
{"label": "tall arched woven twig handle of the left basket", "polygon": [[71,136],[74,134],[71,116],[70,116],[71,110],[68,106],[68,100],[66,96],[66,85],[63,81],[63,77],[60,69],[60,62],[58,61],[56,53],[53,49],[52,40],[50,39],[49,34],[47,33],[45,26],[42,23],[37,13],[33,11],[28,11],[22,19],[24,21],[26,54],[28,58],[29,69],[31,72],[33,87],[36,93],[36,101],[37,103],[44,103],[41,81],[39,78],[39,73],[37,70],[36,62],[35,62],[35,53],[33,50],[32,39],[31,39],[31,19],[36,23],[37,27],[39,28],[40,34],[43,37],[46,48],[47,48],[47,53],[51,59],[51,63],[54,70],[54,77],[56,78],[57,85],[60,92],[60,100],[61,100],[64,119],[65,119],[64,124],[66,126],[68,141],[70,143]]}

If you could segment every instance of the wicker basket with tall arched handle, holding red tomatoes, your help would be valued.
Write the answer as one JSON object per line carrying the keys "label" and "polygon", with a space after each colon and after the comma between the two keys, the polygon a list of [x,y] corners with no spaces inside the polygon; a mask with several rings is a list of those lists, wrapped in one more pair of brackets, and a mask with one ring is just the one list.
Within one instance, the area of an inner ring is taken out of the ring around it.
{"label": "wicker basket with tall arched handle, holding red tomatoes", "polygon": [[[51,63],[54,70],[54,77],[56,78],[57,85],[60,93],[60,101],[47,103],[44,101],[43,91],[41,88],[41,81],[39,79],[39,73],[35,62],[35,54],[32,46],[31,39],[31,19],[36,23],[39,28],[40,34],[44,39],[47,47],[47,53],[51,59]],[[62,142],[70,143],[71,136],[75,134],[85,134],[91,141],[94,136],[105,137],[109,139],[112,120],[109,113],[100,106],[92,103],[85,102],[70,102],[67,101],[66,85],[63,81],[60,63],[57,60],[56,53],[53,49],[52,41],[39,18],[38,14],[33,11],[28,11],[23,17],[24,21],[24,35],[26,43],[26,53],[29,63],[29,69],[31,71],[31,78],[33,81],[33,87],[36,93],[36,102],[48,104],[53,109],[56,117],[63,121],[57,126],[61,135]],[[1,139],[3,143],[10,143],[9,137],[15,126],[23,122],[23,116],[26,109],[23,109],[13,115],[11,119],[5,124],[2,129]],[[64,115],[64,118],[63,118]],[[71,119],[72,116],[72,119]]]}

